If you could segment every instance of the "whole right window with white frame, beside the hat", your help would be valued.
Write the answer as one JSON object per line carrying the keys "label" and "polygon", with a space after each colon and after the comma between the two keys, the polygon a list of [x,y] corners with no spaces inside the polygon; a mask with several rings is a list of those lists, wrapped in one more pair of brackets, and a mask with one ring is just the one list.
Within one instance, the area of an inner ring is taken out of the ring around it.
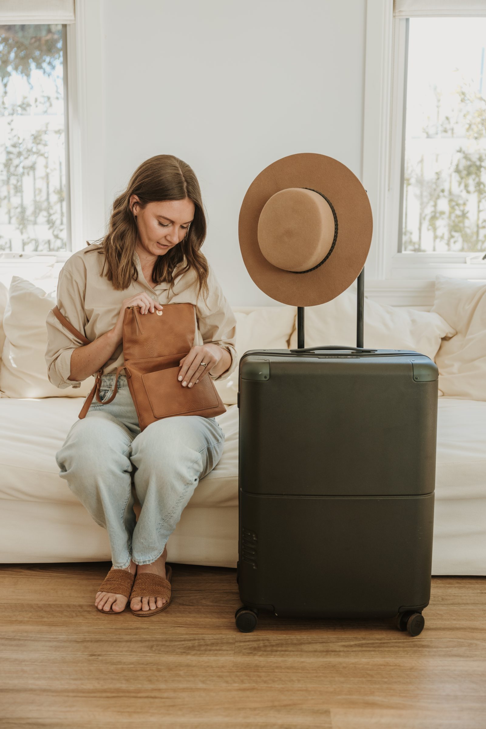
{"label": "whole right window with white frame, beside the hat", "polygon": [[367,0],[366,33],[367,279],[486,279],[486,0]]}

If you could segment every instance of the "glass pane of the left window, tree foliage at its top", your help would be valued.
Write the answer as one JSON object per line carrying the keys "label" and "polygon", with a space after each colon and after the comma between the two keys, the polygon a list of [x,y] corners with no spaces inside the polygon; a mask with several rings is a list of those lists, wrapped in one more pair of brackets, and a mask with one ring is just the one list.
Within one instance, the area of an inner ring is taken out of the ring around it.
{"label": "glass pane of the left window, tree foliage at its top", "polygon": [[66,25],[0,26],[0,250],[69,251]]}

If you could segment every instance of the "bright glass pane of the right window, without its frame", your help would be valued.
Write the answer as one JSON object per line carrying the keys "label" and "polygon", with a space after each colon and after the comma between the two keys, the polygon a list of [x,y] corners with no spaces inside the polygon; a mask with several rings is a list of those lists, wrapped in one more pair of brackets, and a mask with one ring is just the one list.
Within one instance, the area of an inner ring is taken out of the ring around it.
{"label": "bright glass pane of the right window, without its frame", "polygon": [[486,17],[405,23],[399,251],[486,256]]}

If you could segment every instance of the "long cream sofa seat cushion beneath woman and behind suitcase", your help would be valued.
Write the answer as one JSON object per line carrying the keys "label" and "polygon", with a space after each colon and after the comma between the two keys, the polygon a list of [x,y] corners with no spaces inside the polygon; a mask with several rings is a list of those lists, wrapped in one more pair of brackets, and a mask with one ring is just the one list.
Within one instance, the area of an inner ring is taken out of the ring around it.
{"label": "long cream sofa seat cushion beneath woman and behind suitcase", "polygon": [[[0,400],[0,499],[79,503],[59,477],[55,453],[77,420],[82,397]],[[225,434],[216,467],[192,507],[238,506],[238,408],[217,418]],[[486,498],[486,402],[439,399],[436,499]],[[486,528],[486,525],[485,525]]]}

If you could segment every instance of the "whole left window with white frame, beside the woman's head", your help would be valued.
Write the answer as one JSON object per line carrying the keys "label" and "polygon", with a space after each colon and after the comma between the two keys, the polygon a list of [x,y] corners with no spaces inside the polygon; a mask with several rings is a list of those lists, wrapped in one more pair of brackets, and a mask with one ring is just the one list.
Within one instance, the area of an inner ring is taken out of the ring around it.
{"label": "whole left window with white frame, beside the woman's head", "polygon": [[0,272],[12,259],[65,261],[103,235],[101,9],[0,3]]}

